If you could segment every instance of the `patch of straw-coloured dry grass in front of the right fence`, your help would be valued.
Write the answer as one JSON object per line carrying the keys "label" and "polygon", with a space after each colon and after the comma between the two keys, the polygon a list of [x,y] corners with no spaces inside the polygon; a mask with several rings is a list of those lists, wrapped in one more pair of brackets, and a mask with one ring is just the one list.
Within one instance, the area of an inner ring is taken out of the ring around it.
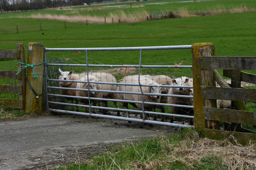
{"label": "patch of straw-coloured dry grass in front of the right fence", "polygon": [[217,141],[208,138],[199,138],[198,133],[189,132],[186,139],[178,144],[160,137],[162,150],[166,152],[156,160],[149,163],[134,162],[134,169],[143,167],[143,169],[154,169],[160,164],[170,164],[178,162],[186,164],[189,169],[195,169],[204,165],[205,158],[218,158],[222,164],[229,170],[255,170],[256,169],[256,143],[250,143],[248,146],[242,146],[234,141],[233,136],[224,141]]}

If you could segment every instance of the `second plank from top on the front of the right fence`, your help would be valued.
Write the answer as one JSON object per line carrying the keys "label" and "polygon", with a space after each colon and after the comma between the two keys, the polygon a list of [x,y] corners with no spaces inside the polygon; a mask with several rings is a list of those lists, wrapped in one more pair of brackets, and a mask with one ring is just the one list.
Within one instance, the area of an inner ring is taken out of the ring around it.
{"label": "second plank from top on the front of the right fence", "polygon": [[247,88],[217,88],[201,86],[204,99],[223,99],[244,102],[256,102],[256,89]]}

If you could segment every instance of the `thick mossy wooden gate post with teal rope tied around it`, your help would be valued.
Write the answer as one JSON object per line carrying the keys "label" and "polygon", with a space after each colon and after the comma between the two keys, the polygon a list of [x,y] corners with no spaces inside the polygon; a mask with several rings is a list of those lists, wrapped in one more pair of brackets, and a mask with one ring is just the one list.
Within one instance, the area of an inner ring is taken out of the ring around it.
{"label": "thick mossy wooden gate post with teal rope tied around it", "polygon": [[[43,93],[43,70],[44,65],[44,44],[29,42],[28,45],[28,59],[27,64],[34,65],[35,74],[38,78],[34,78],[33,68],[27,67],[27,78],[30,85],[34,89],[35,93],[38,94],[38,99],[32,89],[26,85],[26,111],[32,111],[33,113],[42,113],[42,93]],[[37,65],[40,64],[40,65]]]}

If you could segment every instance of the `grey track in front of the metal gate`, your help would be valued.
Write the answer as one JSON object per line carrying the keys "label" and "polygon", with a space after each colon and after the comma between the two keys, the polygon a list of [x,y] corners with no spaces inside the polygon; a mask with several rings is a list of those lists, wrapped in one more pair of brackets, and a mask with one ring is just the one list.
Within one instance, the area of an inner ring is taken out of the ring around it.
{"label": "grey track in front of the metal gate", "polygon": [[177,128],[93,119],[86,116],[39,116],[0,122],[0,169],[37,170],[90,159],[111,144],[168,135]]}

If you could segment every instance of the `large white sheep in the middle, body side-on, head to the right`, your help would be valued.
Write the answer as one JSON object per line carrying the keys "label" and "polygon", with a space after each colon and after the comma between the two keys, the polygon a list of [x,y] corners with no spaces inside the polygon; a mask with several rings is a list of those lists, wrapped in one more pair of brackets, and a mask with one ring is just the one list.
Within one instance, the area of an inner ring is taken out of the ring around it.
{"label": "large white sheep in the middle, body side-on, head to the right", "polygon": [[[132,84],[139,84],[139,76],[126,76],[121,83],[132,83]],[[140,84],[148,84],[148,85],[159,85],[153,79],[147,79],[144,76],[140,76]],[[160,96],[155,94],[160,94],[161,89],[160,87],[145,87],[142,86],[143,93],[151,93],[152,95],[143,95],[144,102],[160,102]],[[119,91],[127,91],[127,92],[141,92],[139,86],[131,86],[131,85],[119,85]],[[138,94],[119,94],[120,99],[122,100],[132,100],[132,101],[142,101],[141,95]],[[128,109],[128,102],[120,102],[122,107]],[[138,110],[142,110],[142,104],[139,103],[130,103],[134,107],[137,107]],[[144,110],[154,110],[157,106],[151,104],[144,104]],[[141,115],[141,114],[140,114]],[[130,117],[130,114],[127,112],[127,117]],[[146,114],[146,119],[149,120],[149,114]]]}

